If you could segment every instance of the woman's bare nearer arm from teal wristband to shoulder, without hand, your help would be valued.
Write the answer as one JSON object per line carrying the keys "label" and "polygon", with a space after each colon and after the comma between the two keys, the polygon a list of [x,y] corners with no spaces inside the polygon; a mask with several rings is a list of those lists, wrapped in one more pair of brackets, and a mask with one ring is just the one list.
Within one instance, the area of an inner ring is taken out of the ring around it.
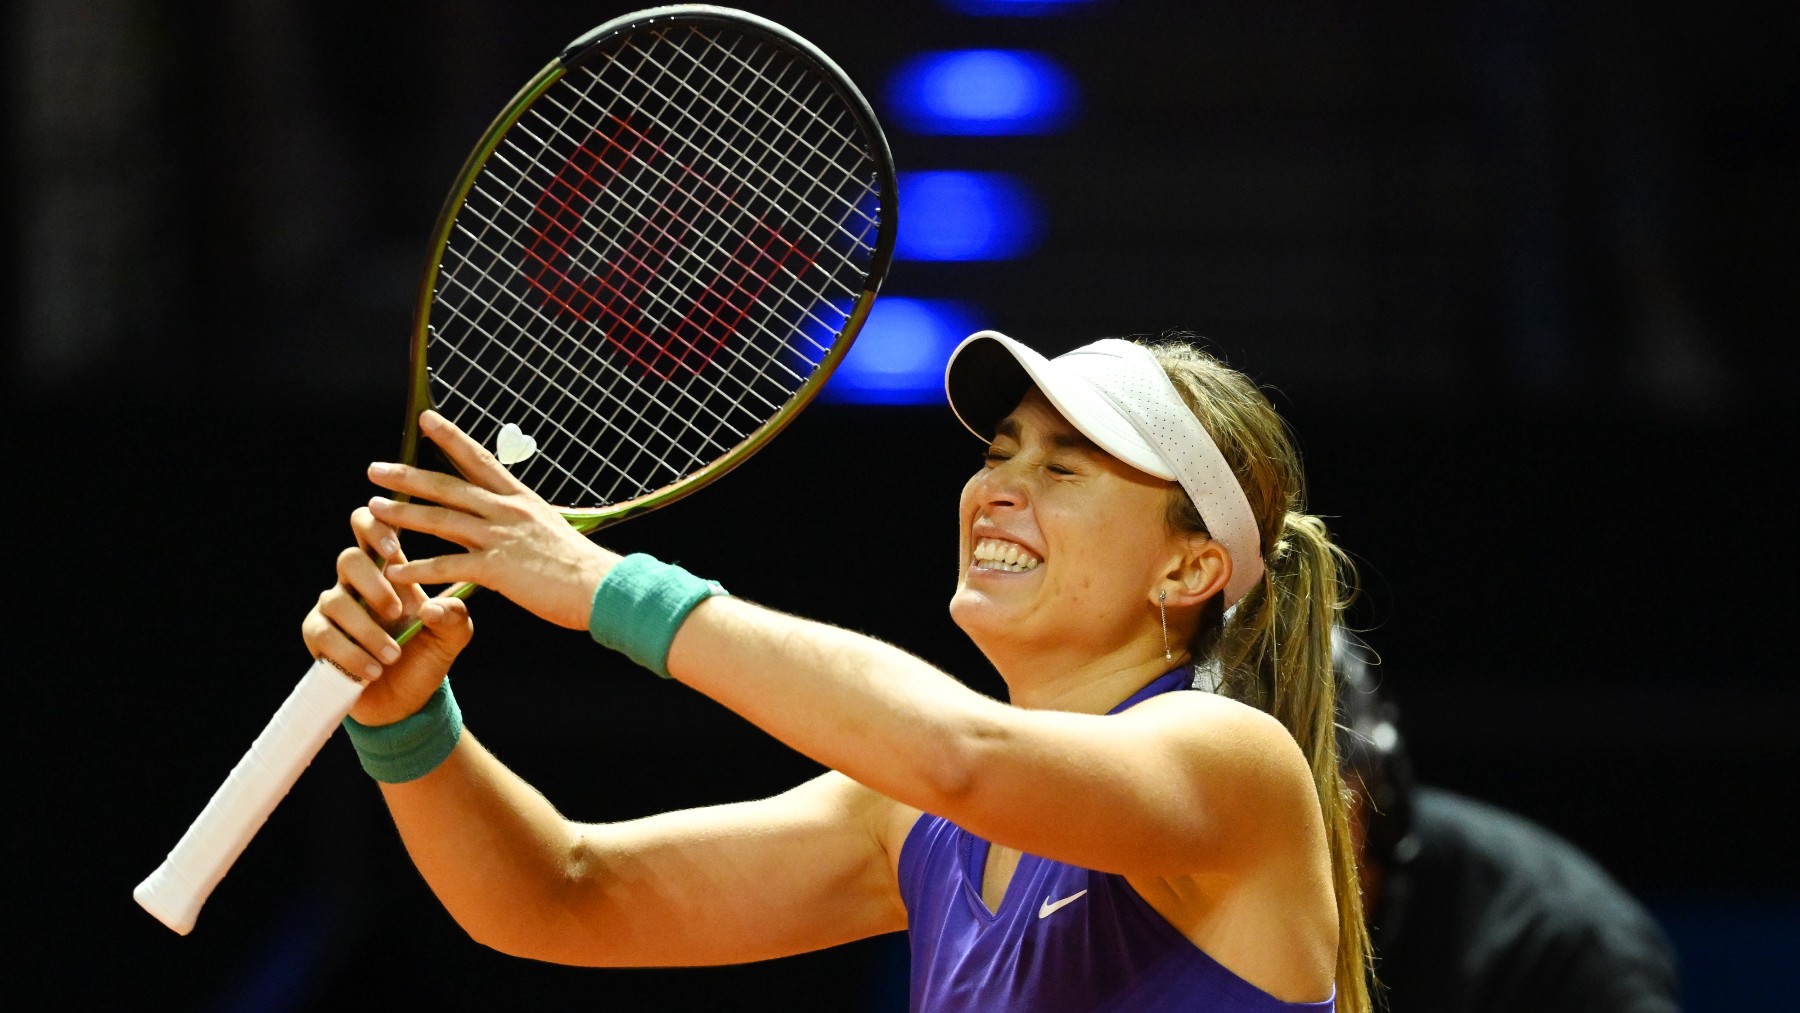
{"label": "woman's bare nearer arm from teal wristband to shoulder, without hand", "polygon": [[1210,693],[1112,716],[1028,711],[889,644],[731,597],[689,615],[670,671],[891,799],[1089,869],[1244,871],[1319,820],[1287,729]]}

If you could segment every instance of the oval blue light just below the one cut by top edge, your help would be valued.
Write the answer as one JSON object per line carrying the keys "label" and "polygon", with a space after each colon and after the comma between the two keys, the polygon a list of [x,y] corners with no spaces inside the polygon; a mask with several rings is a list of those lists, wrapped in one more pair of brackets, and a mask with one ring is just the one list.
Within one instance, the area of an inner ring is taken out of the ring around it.
{"label": "oval blue light just below the one cut by top edge", "polygon": [[887,101],[913,133],[1004,137],[1053,133],[1075,117],[1075,79],[1021,50],[925,52],[895,72]]}

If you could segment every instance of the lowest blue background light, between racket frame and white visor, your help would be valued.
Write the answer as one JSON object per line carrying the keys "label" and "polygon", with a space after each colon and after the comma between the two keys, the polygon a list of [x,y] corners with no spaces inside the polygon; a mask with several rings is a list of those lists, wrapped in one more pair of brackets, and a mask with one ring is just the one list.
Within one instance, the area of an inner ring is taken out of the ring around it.
{"label": "lowest blue background light, between racket frame and white visor", "polygon": [[943,363],[981,327],[974,317],[974,309],[947,299],[877,299],[857,344],[819,396],[851,405],[941,405]]}

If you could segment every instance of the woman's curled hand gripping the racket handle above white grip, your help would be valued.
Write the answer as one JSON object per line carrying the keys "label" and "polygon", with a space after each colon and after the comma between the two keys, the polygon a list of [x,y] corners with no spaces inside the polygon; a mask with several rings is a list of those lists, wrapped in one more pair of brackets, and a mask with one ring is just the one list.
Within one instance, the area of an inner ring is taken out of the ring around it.
{"label": "woman's curled hand gripping the racket handle above white grip", "polygon": [[[461,599],[427,599],[419,585],[394,581],[382,570],[376,554],[389,570],[405,561],[392,527],[367,507],[356,509],[349,524],[356,547],[338,554],[338,583],[319,596],[301,623],[301,637],[313,657],[367,682],[351,718],[391,725],[425,705],[475,628]],[[389,630],[412,617],[425,628],[400,648]]]}

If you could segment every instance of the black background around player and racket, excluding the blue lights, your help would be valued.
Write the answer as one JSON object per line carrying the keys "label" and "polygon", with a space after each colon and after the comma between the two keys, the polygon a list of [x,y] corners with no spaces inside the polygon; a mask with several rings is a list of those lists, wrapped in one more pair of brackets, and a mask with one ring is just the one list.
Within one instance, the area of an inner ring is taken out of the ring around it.
{"label": "black background around player and racket, excluding the blue lights", "polygon": [[[369,495],[362,464],[394,455],[412,290],[452,171],[549,54],[625,11],[9,7],[9,997],[904,1006],[893,939],[698,972],[493,955],[436,907],[337,741],[193,936],[130,900],[304,669],[297,623]],[[1598,856],[1676,939],[1690,1009],[1789,999],[1791,11],[754,11],[877,108],[916,50],[1062,61],[1084,94],[1064,133],[889,137],[902,169],[1022,176],[1042,247],[900,263],[886,291],[965,300],[1046,351],[1208,335],[1298,430],[1312,507],[1361,560],[1357,623],[1424,777]],[[941,407],[819,405],[742,473],[608,542],[999,691],[943,608],[977,450]],[[499,597],[475,615],[470,725],[569,815],[772,793],[815,768]]]}

